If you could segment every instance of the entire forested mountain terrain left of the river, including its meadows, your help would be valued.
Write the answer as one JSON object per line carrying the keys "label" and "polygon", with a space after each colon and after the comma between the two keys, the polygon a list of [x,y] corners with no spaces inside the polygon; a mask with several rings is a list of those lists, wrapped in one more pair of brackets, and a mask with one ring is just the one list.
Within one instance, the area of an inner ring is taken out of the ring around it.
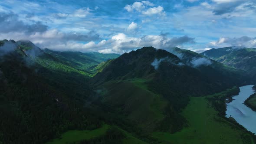
{"label": "entire forested mountain terrain left of the river, including its meadows", "polygon": [[225,118],[225,99],[252,82],[244,70],[179,48],[119,56],[3,40],[0,143],[251,144],[255,136]]}

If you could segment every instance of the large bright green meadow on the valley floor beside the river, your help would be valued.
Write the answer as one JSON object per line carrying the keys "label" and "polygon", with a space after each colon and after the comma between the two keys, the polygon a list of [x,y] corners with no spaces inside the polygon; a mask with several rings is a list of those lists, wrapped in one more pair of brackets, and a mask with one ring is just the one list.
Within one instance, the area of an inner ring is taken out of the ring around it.
{"label": "large bright green meadow on the valley floor beside the river", "polygon": [[191,97],[182,115],[188,128],[174,134],[154,132],[153,137],[171,144],[252,144],[252,137],[217,116],[204,97]]}

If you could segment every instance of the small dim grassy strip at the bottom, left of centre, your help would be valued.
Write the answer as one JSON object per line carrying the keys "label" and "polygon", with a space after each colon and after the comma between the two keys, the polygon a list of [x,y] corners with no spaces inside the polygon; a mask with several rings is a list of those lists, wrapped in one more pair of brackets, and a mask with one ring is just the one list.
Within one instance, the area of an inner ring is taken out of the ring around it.
{"label": "small dim grassy strip at the bottom, left of centre", "polygon": [[108,125],[103,125],[102,128],[98,128],[92,131],[67,131],[61,135],[60,138],[56,138],[46,144],[69,144],[75,143],[82,140],[88,140],[95,137],[102,136],[108,130]]}

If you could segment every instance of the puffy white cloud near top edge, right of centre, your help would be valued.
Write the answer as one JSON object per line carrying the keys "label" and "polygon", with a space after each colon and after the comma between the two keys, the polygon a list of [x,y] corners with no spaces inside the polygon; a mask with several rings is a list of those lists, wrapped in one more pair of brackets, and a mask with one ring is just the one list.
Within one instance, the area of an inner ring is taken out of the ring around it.
{"label": "puffy white cloud near top edge, right of centre", "polygon": [[154,4],[149,1],[142,2],[134,2],[131,5],[126,5],[125,10],[128,12],[140,12],[143,15],[151,16],[151,15],[165,15],[164,8],[161,6],[153,7]]}

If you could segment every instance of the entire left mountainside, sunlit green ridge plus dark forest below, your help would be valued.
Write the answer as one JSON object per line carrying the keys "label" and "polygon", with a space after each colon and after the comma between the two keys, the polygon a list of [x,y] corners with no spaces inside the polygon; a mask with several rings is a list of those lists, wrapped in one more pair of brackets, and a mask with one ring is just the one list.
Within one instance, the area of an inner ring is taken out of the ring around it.
{"label": "entire left mountainside, sunlit green ridge plus dark forest below", "polygon": [[102,126],[83,106],[92,95],[86,71],[30,41],[0,41],[0,54],[0,143],[43,144],[70,129]]}

